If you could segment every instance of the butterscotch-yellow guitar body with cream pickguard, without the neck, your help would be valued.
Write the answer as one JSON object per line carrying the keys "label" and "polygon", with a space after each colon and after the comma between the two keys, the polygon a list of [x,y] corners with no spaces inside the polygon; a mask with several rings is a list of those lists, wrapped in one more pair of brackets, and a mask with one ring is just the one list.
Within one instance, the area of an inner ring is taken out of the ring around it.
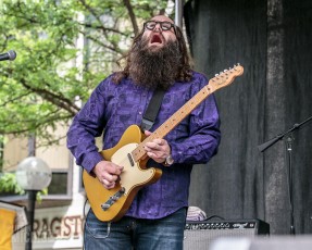
{"label": "butterscotch-yellow guitar body with cream pickguard, without the neck", "polygon": [[132,158],[132,151],[137,148],[141,139],[140,128],[137,125],[132,125],[114,148],[101,151],[105,161],[124,166],[120,180],[113,189],[105,189],[98,178],[84,171],[85,190],[90,205],[100,221],[120,220],[127,212],[138,190],[146,185],[155,183],[161,177],[161,170],[152,167],[146,170],[146,161],[136,162]]}

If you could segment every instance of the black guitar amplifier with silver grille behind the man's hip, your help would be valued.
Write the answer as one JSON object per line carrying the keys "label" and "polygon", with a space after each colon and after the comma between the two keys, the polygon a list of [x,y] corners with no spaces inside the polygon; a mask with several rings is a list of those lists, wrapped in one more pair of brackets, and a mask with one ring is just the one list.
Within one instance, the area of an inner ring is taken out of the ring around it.
{"label": "black guitar amplifier with silver grille behind the man's hip", "polygon": [[270,235],[270,225],[261,220],[187,221],[184,250],[207,250],[220,237],[255,237]]}

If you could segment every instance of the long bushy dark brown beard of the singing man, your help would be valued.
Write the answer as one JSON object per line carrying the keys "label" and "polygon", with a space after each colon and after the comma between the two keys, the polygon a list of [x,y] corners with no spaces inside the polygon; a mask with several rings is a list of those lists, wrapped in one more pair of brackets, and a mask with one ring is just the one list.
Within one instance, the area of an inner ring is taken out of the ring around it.
{"label": "long bushy dark brown beard of the singing man", "polygon": [[180,52],[177,42],[169,41],[163,48],[148,48],[142,39],[130,53],[129,77],[136,85],[163,89],[170,88],[178,74]]}

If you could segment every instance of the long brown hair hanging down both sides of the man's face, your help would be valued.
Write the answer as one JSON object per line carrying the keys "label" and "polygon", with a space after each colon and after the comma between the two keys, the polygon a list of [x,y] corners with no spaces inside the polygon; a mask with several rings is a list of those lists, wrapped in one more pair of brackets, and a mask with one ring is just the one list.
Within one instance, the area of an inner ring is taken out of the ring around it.
{"label": "long brown hair hanging down both sides of the man's face", "polygon": [[[174,28],[175,28],[176,42],[178,45],[178,50],[182,53],[182,58],[180,58],[180,62],[179,62],[179,66],[178,66],[178,71],[177,71],[175,80],[189,82],[191,79],[191,66],[190,66],[190,62],[189,62],[189,55],[188,55],[188,51],[187,51],[186,41],[185,41],[185,38],[183,36],[180,28],[177,26],[175,26]],[[118,62],[121,60],[126,59],[126,65],[125,65],[124,70],[115,72],[115,74],[113,76],[114,83],[118,84],[118,83],[121,83],[121,80],[123,78],[129,76],[129,67],[132,64],[130,53],[132,53],[133,49],[138,46],[138,42],[140,42],[140,40],[142,39],[143,33],[145,33],[145,28],[142,28],[141,32],[134,38],[133,45],[132,45],[129,51],[127,52],[127,54],[117,61],[117,64],[118,64]]]}

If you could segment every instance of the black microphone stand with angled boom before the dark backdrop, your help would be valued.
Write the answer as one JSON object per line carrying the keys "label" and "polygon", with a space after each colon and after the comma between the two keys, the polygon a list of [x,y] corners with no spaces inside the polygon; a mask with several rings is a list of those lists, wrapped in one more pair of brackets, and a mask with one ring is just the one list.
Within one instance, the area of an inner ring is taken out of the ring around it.
{"label": "black microphone stand with angled boom before the dark backdrop", "polygon": [[288,190],[289,190],[289,200],[290,200],[290,235],[295,235],[295,226],[294,226],[294,202],[292,202],[292,136],[291,133],[296,129],[299,129],[303,124],[312,121],[312,116],[303,121],[302,123],[296,123],[291,128],[286,130],[285,133],[282,133],[274,137],[271,140],[267,140],[266,142],[259,145],[258,149],[263,152],[274,143],[276,143],[278,140],[287,136],[286,140],[286,152],[287,152],[287,160],[288,160],[288,173],[289,173],[289,182],[288,182]]}

